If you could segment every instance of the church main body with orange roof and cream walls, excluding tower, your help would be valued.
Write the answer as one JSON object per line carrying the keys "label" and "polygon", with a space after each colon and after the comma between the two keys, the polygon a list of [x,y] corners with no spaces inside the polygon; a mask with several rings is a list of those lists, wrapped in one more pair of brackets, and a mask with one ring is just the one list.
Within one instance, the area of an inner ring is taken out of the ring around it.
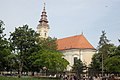
{"label": "church main body with orange roof and cream walls, excluding tower", "polygon": [[67,70],[70,71],[76,59],[80,59],[89,66],[95,48],[88,42],[83,34],[70,36],[57,40],[58,50],[64,54],[64,58],[70,63]]}

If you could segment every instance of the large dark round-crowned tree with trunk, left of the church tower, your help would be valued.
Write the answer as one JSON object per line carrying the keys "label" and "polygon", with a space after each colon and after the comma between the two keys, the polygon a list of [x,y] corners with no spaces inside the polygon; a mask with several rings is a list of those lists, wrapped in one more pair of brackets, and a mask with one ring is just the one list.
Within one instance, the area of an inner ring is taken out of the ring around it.
{"label": "large dark round-crowned tree with trunk, left of the church tower", "polygon": [[23,68],[26,69],[28,66],[28,57],[36,50],[36,39],[37,33],[28,25],[15,28],[15,31],[10,35],[11,47],[18,56],[19,77]]}

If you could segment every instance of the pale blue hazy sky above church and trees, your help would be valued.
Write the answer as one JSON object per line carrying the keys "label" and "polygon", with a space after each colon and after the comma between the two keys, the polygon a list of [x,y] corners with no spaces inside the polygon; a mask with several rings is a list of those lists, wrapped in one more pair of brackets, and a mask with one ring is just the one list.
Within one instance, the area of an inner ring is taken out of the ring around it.
{"label": "pale blue hazy sky above church and trees", "polygon": [[[36,30],[43,0],[0,0],[0,20],[6,37],[15,27],[28,24]],[[111,43],[119,45],[120,0],[45,0],[49,36],[65,38],[81,33],[96,48],[102,30]]]}

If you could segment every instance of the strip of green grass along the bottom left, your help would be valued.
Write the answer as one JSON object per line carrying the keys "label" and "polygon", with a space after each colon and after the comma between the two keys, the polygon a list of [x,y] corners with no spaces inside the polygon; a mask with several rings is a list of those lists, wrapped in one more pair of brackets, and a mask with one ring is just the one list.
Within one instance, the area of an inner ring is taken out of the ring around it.
{"label": "strip of green grass along the bottom left", "polygon": [[22,78],[17,78],[17,77],[4,77],[0,76],[0,80],[59,80],[59,79],[47,79],[47,78],[33,78],[33,77],[22,77]]}

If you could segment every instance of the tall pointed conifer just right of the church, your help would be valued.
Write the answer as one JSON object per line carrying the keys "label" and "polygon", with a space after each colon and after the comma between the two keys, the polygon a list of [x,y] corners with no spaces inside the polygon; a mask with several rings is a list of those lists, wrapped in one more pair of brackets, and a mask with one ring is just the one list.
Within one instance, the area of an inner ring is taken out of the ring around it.
{"label": "tall pointed conifer just right of the church", "polygon": [[91,67],[96,72],[103,73],[104,70],[104,61],[109,56],[110,49],[114,47],[113,44],[109,43],[110,40],[107,39],[105,31],[102,31],[102,35],[100,36],[100,41],[98,45],[98,53],[94,54],[92,58]]}

